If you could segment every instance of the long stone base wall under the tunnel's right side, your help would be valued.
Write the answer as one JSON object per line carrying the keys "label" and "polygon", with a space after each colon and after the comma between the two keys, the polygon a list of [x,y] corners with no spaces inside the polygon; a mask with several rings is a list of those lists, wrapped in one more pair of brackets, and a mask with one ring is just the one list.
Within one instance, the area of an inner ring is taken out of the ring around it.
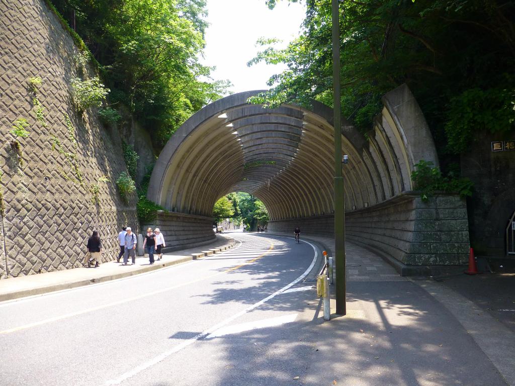
{"label": "long stone base wall under the tunnel's right side", "polygon": [[[466,265],[469,233],[465,200],[439,195],[423,202],[403,194],[373,207],[346,213],[348,240],[368,245],[405,265]],[[334,216],[269,221],[268,229],[334,236]]]}

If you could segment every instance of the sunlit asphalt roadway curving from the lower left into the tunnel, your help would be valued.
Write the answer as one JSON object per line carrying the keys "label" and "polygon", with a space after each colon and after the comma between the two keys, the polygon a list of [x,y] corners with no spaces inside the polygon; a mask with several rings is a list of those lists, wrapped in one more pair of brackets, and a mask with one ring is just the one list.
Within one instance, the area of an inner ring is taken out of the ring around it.
{"label": "sunlit asphalt roadway curving from the lower left into the tunnel", "polygon": [[235,236],[209,258],[0,305],[0,383],[227,384],[228,337],[259,352],[242,332],[287,326],[314,297],[310,244]]}

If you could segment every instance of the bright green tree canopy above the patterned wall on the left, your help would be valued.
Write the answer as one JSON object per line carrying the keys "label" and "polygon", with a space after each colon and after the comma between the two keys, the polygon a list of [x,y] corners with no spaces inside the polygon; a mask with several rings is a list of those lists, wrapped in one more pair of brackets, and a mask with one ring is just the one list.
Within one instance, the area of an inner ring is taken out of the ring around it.
{"label": "bright green tree canopy above the patterned wall on the left", "polygon": [[[99,63],[109,102],[127,106],[159,151],[193,113],[226,93],[199,63],[205,0],[52,0]],[[207,80],[201,80],[207,79]]]}

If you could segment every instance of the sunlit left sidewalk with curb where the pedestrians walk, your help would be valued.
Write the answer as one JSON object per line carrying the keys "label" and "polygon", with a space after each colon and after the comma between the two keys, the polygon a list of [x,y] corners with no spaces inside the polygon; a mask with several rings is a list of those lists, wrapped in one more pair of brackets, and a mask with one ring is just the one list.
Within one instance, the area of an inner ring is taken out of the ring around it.
{"label": "sunlit left sidewalk with curb where the pedestrians walk", "polygon": [[216,238],[216,241],[197,248],[163,254],[161,261],[156,260],[153,265],[149,264],[148,256],[136,256],[135,265],[123,266],[114,260],[105,262],[98,268],[74,268],[2,279],[0,302],[138,275],[212,255],[236,245],[236,241],[229,236],[216,235]]}

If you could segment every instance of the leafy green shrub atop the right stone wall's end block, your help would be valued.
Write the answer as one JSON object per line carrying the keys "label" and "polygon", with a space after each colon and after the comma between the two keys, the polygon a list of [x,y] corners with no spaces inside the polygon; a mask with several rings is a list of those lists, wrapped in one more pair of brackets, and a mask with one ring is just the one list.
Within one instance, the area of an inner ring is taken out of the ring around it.
{"label": "leafy green shrub atop the right stone wall's end block", "polygon": [[420,160],[411,172],[415,189],[420,190],[422,201],[427,201],[435,192],[458,193],[461,197],[472,196],[474,184],[468,178],[459,178],[456,172],[443,176],[439,168],[433,167],[432,162]]}

